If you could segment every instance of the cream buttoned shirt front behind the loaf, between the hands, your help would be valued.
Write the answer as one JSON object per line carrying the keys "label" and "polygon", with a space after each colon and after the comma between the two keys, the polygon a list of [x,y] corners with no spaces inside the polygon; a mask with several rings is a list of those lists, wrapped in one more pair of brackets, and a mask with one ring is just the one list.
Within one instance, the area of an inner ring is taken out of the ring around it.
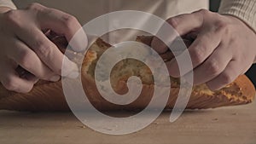
{"label": "cream buttoned shirt front behind the loaf, between the hands", "polygon": [[[9,0],[0,0],[7,2]],[[73,14],[79,22],[84,25],[96,17],[119,10],[138,10],[154,14],[166,20],[177,14],[191,13],[198,9],[208,9],[208,0],[13,0],[18,8],[26,8],[29,3],[37,2],[47,7],[61,9],[62,11]],[[135,21],[138,22],[138,21]],[[139,25],[143,26],[141,21]],[[114,24],[119,26],[118,20]],[[134,40],[140,32],[122,31],[111,32],[110,35],[103,37],[108,43],[118,43],[119,41]]]}

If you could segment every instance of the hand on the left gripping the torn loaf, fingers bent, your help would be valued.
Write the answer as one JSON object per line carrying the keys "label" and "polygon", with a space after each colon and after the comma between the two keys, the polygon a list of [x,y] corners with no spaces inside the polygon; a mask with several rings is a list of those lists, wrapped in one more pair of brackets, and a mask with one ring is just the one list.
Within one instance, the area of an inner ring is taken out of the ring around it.
{"label": "hand on the left gripping the torn loaf, fingers bent", "polygon": [[[45,36],[44,31],[55,32],[69,42],[80,28],[79,21],[72,15],[38,3],[32,3],[27,9],[0,14],[0,81],[3,86],[26,93],[38,79],[58,81],[61,67],[68,70],[62,72],[64,77],[78,73],[78,66],[71,60],[68,66],[62,66],[62,60],[67,57]],[[73,49],[84,50],[87,45],[85,39],[84,33],[83,46],[78,46],[81,44],[78,41]],[[25,69],[26,75],[20,77],[17,67]]]}

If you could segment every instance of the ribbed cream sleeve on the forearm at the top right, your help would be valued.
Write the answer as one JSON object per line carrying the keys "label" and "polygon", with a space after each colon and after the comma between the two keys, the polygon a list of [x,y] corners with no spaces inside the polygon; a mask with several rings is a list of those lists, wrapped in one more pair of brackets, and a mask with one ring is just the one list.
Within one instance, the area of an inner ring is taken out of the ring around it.
{"label": "ribbed cream sleeve on the forearm at the top right", "polygon": [[[219,14],[229,14],[242,20],[256,33],[256,1],[255,0],[222,0]],[[256,62],[256,58],[254,63]]]}

